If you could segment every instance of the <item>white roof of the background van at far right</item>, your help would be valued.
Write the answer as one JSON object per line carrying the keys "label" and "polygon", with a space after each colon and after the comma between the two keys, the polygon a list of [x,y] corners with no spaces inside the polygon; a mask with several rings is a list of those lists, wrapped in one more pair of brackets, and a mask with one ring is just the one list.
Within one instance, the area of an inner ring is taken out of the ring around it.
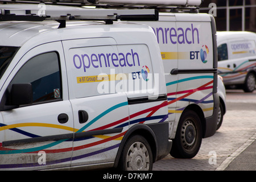
{"label": "white roof of the background van at far right", "polygon": [[256,34],[249,31],[217,31],[217,42],[225,40],[249,39],[256,41]]}

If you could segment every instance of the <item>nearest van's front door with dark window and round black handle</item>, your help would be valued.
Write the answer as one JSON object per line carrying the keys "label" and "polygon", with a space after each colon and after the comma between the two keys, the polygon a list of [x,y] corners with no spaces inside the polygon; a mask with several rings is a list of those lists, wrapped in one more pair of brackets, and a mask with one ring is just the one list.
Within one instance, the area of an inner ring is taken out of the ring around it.
{"label": "nearest van's front door with dark window and round black handle", "polygon": [[73,114],[63,63],[61,42],[47,43],[32,48],[6,73],[0,91],[1,169],[70,166]]}

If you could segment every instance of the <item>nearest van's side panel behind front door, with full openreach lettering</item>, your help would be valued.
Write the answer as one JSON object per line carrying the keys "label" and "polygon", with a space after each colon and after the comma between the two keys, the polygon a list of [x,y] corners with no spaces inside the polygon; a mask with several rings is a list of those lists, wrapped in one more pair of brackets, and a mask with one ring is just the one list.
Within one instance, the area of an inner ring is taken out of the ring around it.
{"label": "nearest van's side panel behind front door, with full openreach lettering", "polygon": [[[71,166],[114,162],[131,127],[168,121],[166,88],[161,86],[165,84],[163,67],[155,61],[160,55],[151,55],[155,51],[152,39],[139,39],[147,33],[136,34],[133,38],[138,39],[125,41],[118,33],[113,38],[106,33],[105,38],[63,41],[74,115]],[[155,39],[152,32],[148,36]],[[155,144],[155,159],[170,151],[166,134],[154,134],[167,145],[160,149],[162,145]]]}

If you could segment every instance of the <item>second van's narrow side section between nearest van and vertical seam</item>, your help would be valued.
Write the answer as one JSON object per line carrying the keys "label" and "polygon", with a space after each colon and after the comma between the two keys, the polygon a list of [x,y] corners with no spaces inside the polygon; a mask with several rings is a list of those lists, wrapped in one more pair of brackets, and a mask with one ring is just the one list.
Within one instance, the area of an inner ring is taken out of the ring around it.
{"label": "second van's narrow side section between nearest van and vertical seam", "polygon": [[178,81],[177,75],[174,72],[178,68],[176,18],[175,15],[159,14],[159,21],[157,22],[148,21],[141,23],[152,27],[161,51],[167,88],[168,121],[170,121],[171,135],[172,130],[174,130],[174,121],[177,112],[176,91]]}

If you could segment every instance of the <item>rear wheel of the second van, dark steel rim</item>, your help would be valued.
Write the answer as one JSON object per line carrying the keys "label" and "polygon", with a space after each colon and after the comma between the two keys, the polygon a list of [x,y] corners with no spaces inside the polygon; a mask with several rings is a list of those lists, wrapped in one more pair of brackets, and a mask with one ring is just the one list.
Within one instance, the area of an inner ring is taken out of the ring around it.
{"label": "rear wheel of the second van, dark steel rim", "polygon": [[174,158],[191,159],[196,156],[202,142],[202,126],[198,115],[187,110],[180,117],[170,154]]}

